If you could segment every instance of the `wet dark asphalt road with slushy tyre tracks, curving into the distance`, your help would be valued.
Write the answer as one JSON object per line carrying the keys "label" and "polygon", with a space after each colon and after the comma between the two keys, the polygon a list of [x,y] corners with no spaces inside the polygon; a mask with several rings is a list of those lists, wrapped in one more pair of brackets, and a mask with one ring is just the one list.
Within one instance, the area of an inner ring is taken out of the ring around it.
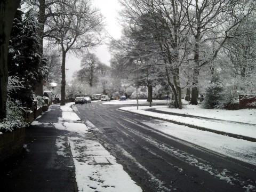
{"label": "wet dark asphalt road with slushy tyre tracks, curving into the distance", "polygon": [[119,107],[92,102],[76,113],[143,191],[256,191],[256,166],[159,133],[143,124],[154,118]]}

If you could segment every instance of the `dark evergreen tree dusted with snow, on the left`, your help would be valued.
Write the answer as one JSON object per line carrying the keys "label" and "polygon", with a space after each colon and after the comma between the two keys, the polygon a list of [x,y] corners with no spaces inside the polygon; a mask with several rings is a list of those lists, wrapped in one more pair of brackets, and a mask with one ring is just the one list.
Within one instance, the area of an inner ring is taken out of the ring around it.
{"label": "dark evergreen tree dusted with snow, on the left", "polygon": [[33,101],[36,82],[42,81],[47,72],[46,59],[38,52],[38,26],[32,11],[25,14],[24,20],[22,12],[17,11],[10,38],[9,75],[18,76],[24,86],[11,95],[11,98],[20,100],[27,107],[30,107]]}

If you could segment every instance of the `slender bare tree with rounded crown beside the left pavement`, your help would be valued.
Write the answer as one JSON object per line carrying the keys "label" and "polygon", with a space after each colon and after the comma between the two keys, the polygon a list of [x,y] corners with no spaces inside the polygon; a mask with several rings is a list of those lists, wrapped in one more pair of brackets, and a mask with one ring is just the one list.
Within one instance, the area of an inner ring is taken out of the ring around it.
{"label": "slender bare tree with rounded crown beside the left pavement", "polygon": [[65,105],[66,55],[69,51],[79,53],[86,47],[98,45],[104,23],[99,10],[93,9],[89,0],[63,1],[51,11],[52,17],[46,21],[46,36],[61,50],[61,105]]}

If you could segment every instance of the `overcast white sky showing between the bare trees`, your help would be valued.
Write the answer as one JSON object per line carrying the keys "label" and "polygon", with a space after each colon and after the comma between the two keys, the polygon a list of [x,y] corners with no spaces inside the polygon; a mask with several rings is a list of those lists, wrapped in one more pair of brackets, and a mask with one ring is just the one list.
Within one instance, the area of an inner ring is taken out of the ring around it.
{"label": "overcast white sky showing between the bare trees", "polygon": [[[118,26],[117,11],[121,9],[121,6],[118,3],[118,0],[92,0],[93,6],[98,7],[101,10],[101,13],[104,15],[105,22],[107,24],[106,29],[108,33],[115,37],[119,38],[121,36],[121,28]],[[97,47],[94,52],[101,62],[110,66],[110,53],[108,52],[107,45],[100,45]],[[69,55],[66,61],[66,77],[67,81],[72,79],[73,73],[76,70],[80,69],[81,58],[74,57],[74,55]]]}

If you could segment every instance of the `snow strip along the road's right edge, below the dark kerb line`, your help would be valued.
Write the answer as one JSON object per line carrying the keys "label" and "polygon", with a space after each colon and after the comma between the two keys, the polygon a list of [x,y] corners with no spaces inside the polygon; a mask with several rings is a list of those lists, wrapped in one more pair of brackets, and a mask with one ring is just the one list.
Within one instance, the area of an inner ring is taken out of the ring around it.
{"label": "snow strip along the road's right edge, below the dark kerb line", "polygon": [[[216,151],[219,154],[256,165],[256,142],[226,137],[225,135],[201,131],[160,120],[156,120],[154,123],[146,121],[142,123],[151,127],[151,130],[160,131],[167,135],[194,143],[197,146]],[[147,128],[145,127],[145,129]]]}

